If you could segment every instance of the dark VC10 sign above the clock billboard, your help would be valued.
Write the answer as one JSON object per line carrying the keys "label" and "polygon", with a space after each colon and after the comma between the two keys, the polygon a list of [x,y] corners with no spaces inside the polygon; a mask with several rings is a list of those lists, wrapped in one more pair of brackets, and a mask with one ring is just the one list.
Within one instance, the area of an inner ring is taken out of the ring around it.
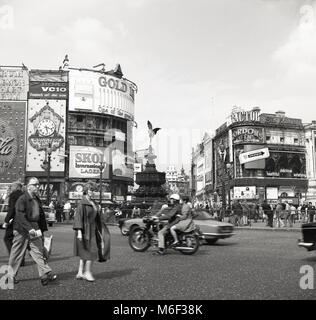
{"label": "dark VC10 sign above the clock billboard", "polygon": [[66,82],[30,82],[29,98],[34,99],[68,99]]}

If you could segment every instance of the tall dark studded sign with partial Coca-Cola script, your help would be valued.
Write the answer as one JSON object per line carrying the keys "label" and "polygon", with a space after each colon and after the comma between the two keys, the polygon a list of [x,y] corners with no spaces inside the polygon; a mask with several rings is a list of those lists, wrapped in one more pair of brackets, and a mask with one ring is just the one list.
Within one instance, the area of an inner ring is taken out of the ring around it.
{"label": "tall dark studded sign with partial Coca-Cola script", "polygon": [[26,102],[0,102],[0,183],[24,180]]}

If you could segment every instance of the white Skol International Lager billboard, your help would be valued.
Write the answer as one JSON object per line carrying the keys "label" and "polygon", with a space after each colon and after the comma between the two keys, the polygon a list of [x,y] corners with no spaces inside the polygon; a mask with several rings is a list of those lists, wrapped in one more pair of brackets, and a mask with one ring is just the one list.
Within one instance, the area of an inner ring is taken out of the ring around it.
{"label": "white Skol International Lager billboard", "polygon": [[102,178],[109,179],[109,148],[70,146],[69,178],[99,179],[100,163]]}

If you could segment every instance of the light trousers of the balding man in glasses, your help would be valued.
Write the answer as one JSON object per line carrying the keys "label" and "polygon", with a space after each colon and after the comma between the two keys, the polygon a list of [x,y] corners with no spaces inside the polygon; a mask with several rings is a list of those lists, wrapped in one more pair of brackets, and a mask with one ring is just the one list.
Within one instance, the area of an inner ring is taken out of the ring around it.
{"label": "light trousers of the balding man in glasses", "polygon": [[29,245],[30,255],[37,264],[39,276],[43,278],[52,269],[45,262],[43,256],[43,240],[42,237],[29,239],[27,236],[20,234],[18,231],[13,231],[13,245],[10,252],[9,266],[13,270],[13,277],[18,274],[22,263],[25,251]]}

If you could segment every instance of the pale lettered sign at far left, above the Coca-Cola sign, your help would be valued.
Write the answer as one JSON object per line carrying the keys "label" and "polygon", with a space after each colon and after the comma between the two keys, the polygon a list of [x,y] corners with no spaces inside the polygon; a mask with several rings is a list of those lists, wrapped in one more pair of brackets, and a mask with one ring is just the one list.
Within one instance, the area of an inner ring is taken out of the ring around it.
{"label": "pale lettered sign at far left, above the Coca-Cola sign", "polygon": [[27,100],[28,89],[26,69],[0,67],[0,100]]}

